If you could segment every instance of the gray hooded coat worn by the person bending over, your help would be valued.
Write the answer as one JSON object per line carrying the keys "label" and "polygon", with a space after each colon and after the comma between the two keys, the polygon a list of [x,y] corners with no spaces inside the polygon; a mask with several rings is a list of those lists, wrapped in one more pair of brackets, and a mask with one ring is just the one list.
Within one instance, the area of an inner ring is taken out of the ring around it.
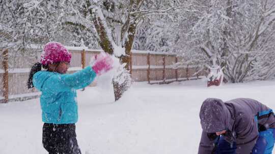
{"label": "gray hooded coat worn by the person bending over", "polygon": [[[210,154],[215,149],[215,132],[227,130],[228,142],[236,142],[237,154],[250,154],[258,132],[275,128],[273,111],[264,104],[249,98],[237,98],[227,102],[206,99],[200,110],[203,129],[199,154]],[[211,137],[212,134],[212,137]]]}

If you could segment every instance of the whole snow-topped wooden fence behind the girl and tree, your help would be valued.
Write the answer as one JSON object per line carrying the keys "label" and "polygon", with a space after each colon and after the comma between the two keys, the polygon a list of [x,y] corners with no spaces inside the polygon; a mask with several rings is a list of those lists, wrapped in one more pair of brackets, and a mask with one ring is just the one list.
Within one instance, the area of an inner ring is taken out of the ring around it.
{"label": "whole snow-topped wooden fence behind the girl and tree", "polygon": [[[102,50],[91,50],[82,47],[67,47],[72,53],[69,72],[74,72],[89,65],[92,56]],[[40,93],[35,89],[28,90],[28,81],[31,65],[26,65],[25,57],[18,57],[15,65],[17,68],[8,68],[8,50],[3,55],[4,61],[0,64],[0,103],[9,100],[25,100],[39,97]],[[36,55],[39,61],[41,52]],[[149,84],[165,84],[173,81],[194,80],[201,78],[205,73],[198,72],[196,67],[182,67],[175,69],[173,64],[181,60],[173,53],[132,50],[130,55],[130,73],[136,82],[148,82]],[[33,61],[35,63],[36,61]],[[95,84],[93,84],[95,85]]]}

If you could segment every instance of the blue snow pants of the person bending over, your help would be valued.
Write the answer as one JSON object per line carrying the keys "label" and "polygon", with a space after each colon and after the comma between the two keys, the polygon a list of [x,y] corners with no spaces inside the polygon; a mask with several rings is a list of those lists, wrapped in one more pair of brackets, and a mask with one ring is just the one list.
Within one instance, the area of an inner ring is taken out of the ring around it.
{"label": "blue snow pants of the person bending over", "polygon": [[[259,132],[259,137],[252,150],[252,154],[272,154],[274,142],[275,129]],[[235,142],[231,144],[221,136],[218,140],[215,154],[236,154],[236,149]]]}

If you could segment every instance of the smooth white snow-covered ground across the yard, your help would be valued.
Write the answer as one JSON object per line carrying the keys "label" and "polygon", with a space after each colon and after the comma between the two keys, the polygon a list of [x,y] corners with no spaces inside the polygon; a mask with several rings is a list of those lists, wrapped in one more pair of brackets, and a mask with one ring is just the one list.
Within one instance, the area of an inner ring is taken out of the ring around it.
{"label": "smooth white snow-covered ground across the yard", "polygon": [[[205,80],[169,85],[134,83],[114,102],[112,88],[78,91],[76,124],[82,153],[197,153],[199,110],[208,97],[249,97],[275,109],[275,81],[206,87]],[[0,104],[0,153],[47,153],[39,99]],[[273,152],[275,153],[275,152]]]}

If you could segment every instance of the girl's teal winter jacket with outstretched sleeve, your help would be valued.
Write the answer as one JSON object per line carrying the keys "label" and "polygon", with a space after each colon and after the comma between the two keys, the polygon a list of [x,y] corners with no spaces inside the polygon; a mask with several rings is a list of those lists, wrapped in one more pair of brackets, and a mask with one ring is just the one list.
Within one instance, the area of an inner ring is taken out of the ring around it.
{"label": "girl's teal winter jacket with outstretched sleeve", "polygon": [[42,121],[51,124],[77,122],[76,90],[92,83],[96,73],[88,66],[72,74],[38,71],[34,74],[34,87],[41,91]]}

